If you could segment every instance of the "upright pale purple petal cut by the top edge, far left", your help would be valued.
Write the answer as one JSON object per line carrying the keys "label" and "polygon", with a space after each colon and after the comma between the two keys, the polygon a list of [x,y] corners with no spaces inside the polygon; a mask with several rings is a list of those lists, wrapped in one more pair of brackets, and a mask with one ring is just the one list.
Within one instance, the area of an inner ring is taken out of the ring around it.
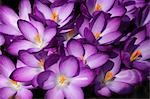
{"label": "upright pale purple petal cut by the top edge, far left", "polygon": [[31,13],[31,4],[29,0],[21,0],[19,5],[19,16],[21,19],[29,20]]}

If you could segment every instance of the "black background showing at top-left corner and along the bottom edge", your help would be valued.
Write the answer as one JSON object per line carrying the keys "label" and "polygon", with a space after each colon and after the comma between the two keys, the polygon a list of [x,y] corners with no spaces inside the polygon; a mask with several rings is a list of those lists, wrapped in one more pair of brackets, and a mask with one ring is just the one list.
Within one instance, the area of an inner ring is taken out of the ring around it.
{"label": "black background showing at top-left corner and along the bottom edge", "polygon": [[[16,12],[18,12],[18,4],[19,4],[20,0],[0,0],[0,5],[7,5],[9,7],[11,7],[12,9],[14,9]],[[31,3],[33,4],[34,0],[30,0]],[[148,1],[148,0],[146,0]],[[149,92],[150,92],[150,82],[149,81],[144,81],[141,85],[138,85],[135,87],[134,92],[132,92],[129,95],[124,95],[124,96],[120,96],[117,94],[114,94],[112,97],[102,97],[102,96],[96,96],[95,92],[94,92],[94,87],[90,86],[90,87],[86,87],[83,89],[84,91],[84,95],[86,99],[113,99],[113,98],[118,98],[118,99],[122,99],[122,98],[130,98],[130,99],[150,99],[149,97]],[[32,90],[33,95],[34,95],[34,99],[43,99],[44,94],[46,91],[37,88]]]}

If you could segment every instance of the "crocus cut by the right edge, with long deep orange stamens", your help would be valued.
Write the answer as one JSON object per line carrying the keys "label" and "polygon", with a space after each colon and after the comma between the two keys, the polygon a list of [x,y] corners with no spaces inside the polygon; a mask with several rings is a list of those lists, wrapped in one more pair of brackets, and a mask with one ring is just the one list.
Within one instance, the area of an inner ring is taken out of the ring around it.
{"label": "crocus cut by the right edge, with long deep orange stamens", "polygon": [[[147,59],[150,58],[150,40],[145,40],[139,44],[131,53],[123,52],[122,60],[127,67],[134,67],[143,71],[150,71],[150,62]],[[129,47],[128,47],[129,48]],[[130,48],[131,49],[131,48]]]}

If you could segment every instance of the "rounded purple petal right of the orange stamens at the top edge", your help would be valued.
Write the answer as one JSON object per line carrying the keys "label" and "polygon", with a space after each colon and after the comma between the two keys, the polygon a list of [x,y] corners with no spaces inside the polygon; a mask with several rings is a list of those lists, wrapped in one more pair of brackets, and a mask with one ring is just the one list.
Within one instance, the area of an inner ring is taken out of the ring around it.
{"label": "rounded purple petal right of the orange stamens at the top edge", "polygon": [[126,12],[126,9],[123,6],[114,6],[109,13],[111,14],[111,17],[114,16],[123,16]]}

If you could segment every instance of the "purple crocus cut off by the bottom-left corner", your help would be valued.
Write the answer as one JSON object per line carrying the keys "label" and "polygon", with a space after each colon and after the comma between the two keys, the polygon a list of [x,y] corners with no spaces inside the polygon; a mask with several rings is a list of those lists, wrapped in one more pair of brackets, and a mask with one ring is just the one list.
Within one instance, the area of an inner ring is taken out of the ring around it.
{"label": "purple crocus cut off by the bottom-left corner", "polygon": [[15,70],[13,62],[0,55],[0,99],[32,99],[32,92],[28,90],[28,88],[32,88],[31,86],[9,78],[13,70]]}

